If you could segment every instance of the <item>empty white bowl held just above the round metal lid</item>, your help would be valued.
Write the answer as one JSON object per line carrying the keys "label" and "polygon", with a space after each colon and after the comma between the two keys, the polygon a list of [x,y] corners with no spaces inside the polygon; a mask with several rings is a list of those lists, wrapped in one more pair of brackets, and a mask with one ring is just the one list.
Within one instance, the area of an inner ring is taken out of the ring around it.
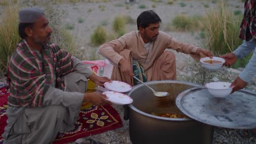
{"label": "empty white bowl held just above the round metal lid", "polygon": [[206,83],[205,87],[207,87],[209,93],[211,93],[214,97],[224,98],[229,95],[233,89],[233,87],[229,87],[231,83],[229,82],[210,82]]}

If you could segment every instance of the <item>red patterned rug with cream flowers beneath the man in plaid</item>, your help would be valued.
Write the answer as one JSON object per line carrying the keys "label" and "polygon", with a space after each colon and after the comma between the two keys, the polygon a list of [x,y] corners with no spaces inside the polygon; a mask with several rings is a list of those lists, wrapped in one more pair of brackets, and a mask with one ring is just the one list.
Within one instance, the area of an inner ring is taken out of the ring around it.
{"label": "red patterned rug with cream flowers beneath the man in plaid", "polygon": [[[6,88],[0,88],[0,144],[3,143],[4,127],[7,125],[7,97]],[[57,135],[54,144],[73,142],[81,137],[100,134],[107,130],[122,127],[118,112],[110,105],[95,106],[81,110],[75,128]]]}

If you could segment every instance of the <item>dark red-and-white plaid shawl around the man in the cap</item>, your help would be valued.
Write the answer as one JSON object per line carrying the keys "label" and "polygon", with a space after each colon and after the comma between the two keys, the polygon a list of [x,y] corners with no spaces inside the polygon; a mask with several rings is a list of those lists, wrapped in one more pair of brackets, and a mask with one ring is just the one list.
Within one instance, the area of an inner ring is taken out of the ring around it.
{"label": "dark red-and-white plaid shawl around the man in the cap", "polygon": [[56,44],[43,45],[40,55],[31,49],[25,40],[21,40],[8,64],[8,105],[42,106],[49,87],[55,81],[56,84],[61,83],[60,88],[65,87],[61,77],[72,71],[71,54],[61,50]]}

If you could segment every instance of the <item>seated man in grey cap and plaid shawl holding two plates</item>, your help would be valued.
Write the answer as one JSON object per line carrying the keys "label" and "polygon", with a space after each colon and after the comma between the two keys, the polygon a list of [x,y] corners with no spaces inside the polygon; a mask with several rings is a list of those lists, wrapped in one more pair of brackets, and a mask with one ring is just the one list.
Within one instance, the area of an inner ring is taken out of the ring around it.
{"label": "seated man in grey cap and plaid shawl holding two plates", "polygon": [[42,9],[20,10],[19,22],[22,40],[8,65],[8,125],[2,136],[4,143],[51,143],[74,127],[83,101],[112,104],[102,93],[85,92],[87,79],[100,86],[110,79],[49,43],[52,29]]}

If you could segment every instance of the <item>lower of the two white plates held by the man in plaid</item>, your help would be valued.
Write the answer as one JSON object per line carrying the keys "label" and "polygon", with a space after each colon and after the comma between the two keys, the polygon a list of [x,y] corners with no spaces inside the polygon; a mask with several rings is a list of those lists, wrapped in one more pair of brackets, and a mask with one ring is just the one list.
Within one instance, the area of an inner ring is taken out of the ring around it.
{"label": "lower of the two white plates held by the man in plaid", "polygon": [[127,104],[131,104],[132,103],[132,98],[129,97],[126,94],[123,93],[119,93],[119,92],[112,92],[112,91],[108,91],[108,92],[103,92],[103,94],[106,94],[109,101],[111,101],[113,104],[116,105],[127,105]]}

